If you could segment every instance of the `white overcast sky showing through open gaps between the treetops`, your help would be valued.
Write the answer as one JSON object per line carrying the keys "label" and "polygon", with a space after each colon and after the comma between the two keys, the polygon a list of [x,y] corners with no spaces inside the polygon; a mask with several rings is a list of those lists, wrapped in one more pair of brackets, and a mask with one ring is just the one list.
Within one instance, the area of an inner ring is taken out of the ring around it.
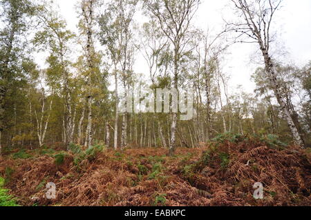
{"label": "white overcast sky showing through open gaps between the treetops", "polygon": [[[60,13],[66,19],[68,28],[77,31],[77,14],[75,4],[78,0],[56,0]],[[223,27],[223,17],[229,19],[234,14],[229,10],[229,0],[202,0],[198,10],[195,25],[212,32],[218,32]],[[284,0],[283,8],[276,14],[274,29],[277,30],[278,40],[285,47],[288,54],[285,60],[302,66],[311,60],[311,1]],[[232,46],[223,63],[223,70],[231,76],[230,87],[242,85],[246,92],[253,92],[254,83],[250,76],[258,65],[251,63],[258,46],[256,44],[238,44]],[[286,63],[286,62],[285,62]],[[144,59],[138,59],[135,65],[136,72],[147,72]]]}

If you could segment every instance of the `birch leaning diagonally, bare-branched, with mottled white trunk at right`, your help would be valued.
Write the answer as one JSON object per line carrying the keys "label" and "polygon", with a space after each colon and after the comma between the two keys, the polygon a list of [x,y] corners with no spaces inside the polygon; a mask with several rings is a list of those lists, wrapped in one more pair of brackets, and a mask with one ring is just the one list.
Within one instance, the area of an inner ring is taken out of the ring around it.
{"label": "birch leaning diagonally, bare-branched, with mottled white trunk at right", "polygon": [[274,95],[281,106],[281,110],[288,123],[292,136],[296,144],[305,148],[305,143],[299,134],[290,109],[285,102],[285,94],[281,90],[279,80],[276,76],[275,61],[271,53],[271,43],[273,41],[272,25],[274,15],[279,10],[282,0],[232,0],[237,11],[237,15],[241,17],[241,21],[227,23],[227,31],[232,30],[238,33],[238,37],[247,37],[249,40],[241,42],[258,43],[265,63],[265,72],[267,73],[270,85],[274,90]]}

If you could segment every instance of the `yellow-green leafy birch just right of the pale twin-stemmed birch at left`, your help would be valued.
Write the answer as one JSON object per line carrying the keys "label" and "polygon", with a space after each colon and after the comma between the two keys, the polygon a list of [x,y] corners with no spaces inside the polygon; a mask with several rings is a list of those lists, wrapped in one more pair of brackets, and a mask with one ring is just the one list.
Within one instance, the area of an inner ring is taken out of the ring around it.
{"label": "yellow-green leafy birch just right of the pale twin-stemmed birch at left", "polygon": [[59,17],[53,5],[40,6],[37,13],[41,30],[35,34],[33,42],[39,51],[50,52],[46,61],[50,68],[47,72],[50,82],[57,90],[62,92],[64,100],[63,141],[68,143],[73,132],[73,102],[70,89],[70,46],[72,46],[75,34],[66,29],[66,21]]}

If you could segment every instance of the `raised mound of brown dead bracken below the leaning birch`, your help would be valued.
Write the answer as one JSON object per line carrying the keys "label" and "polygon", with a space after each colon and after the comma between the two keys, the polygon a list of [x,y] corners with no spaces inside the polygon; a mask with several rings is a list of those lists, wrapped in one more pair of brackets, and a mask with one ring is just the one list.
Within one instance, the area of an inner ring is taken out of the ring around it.
{"label": "raised mound of brown dead bracken below the leaning birch", "polygon": [[[208,192],[207,206],[310,206],[310,153],[283,150],[256,139],[211,144],[202,158],[182,170],[186,179]],[[263,199],[254,199],[254,183]]]}

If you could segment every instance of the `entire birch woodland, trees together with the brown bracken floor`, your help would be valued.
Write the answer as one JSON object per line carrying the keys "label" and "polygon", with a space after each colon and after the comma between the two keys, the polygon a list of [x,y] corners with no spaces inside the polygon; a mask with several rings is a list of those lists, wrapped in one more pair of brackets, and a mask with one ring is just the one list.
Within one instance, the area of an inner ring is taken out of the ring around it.
{"label": "entire birch woodland, trees together with the brown bracken floor", "polygon": [[[311,205],[311,58],[277,56],[285,0],[230,0],[220,32],[202,1],[77,0],[73,32],[55,1],[0,0],[0,206]],[[252,93],[224,68],[236,44]],[[134,84],[191,87],[194,117],[122,112]]]}

